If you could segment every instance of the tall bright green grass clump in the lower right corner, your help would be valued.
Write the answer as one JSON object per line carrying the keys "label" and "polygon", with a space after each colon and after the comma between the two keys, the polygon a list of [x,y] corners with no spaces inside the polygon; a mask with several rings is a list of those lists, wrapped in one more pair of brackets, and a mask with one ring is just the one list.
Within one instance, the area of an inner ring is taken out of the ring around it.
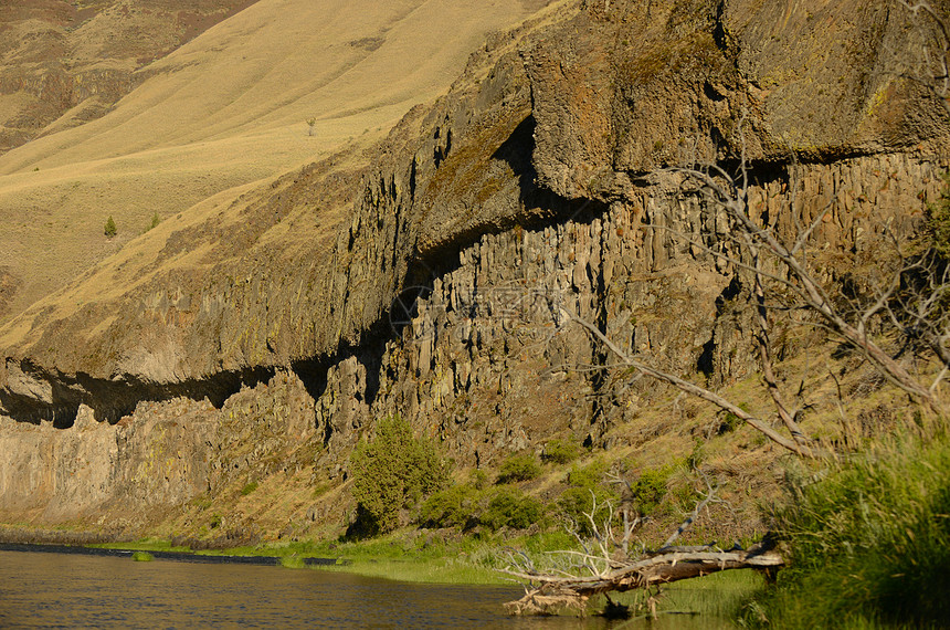
{"label": "tall bright green grass clump in the lower right corner", "polygon": [[950,439],[879,444],[793,484],[777,532],[791,566],[753,602],[778,628],[938,627],[950,620]]}

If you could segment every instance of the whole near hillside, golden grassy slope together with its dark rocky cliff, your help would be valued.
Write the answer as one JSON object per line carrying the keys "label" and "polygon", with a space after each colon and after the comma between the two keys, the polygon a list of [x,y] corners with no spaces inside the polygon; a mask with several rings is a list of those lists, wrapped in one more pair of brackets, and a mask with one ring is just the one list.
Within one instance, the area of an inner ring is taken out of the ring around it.
{"label": "whole near hillside, golden grassy slope together with its dark rocky cliff", "polygon": [[[0,201],[62,198],[86,232],[57,250],[98,261],[33,288],[17,274],[0,519],[219,546],[337,535],[350,452],[401,416],[460,479],[553,439],[637,474],[701,455],[735,502],[709,532],[760,531],[750,497],[783,451],[632,376],[563,314],[768,418],[751,254],[682,168],[741,172],[756,221],[791,241],[812,227],[830,295],[873,294],[950,158],[946,98],[921,80],[938,30],[884,0],[325,2],[325,30],[289,4],[255,3],[108,115],[0,158]],[[912,416],[854,348],[780,322],[781,386],[815,443]],[[548,473],[525,489],[553,504],[567,482]]]}

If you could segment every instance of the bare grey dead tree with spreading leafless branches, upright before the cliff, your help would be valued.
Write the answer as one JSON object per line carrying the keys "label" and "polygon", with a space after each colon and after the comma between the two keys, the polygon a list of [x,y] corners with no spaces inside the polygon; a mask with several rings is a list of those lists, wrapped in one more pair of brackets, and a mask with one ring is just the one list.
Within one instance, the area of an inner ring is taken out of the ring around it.
{"label": "bare grey dead tree with spreading leafless branches, upright before the cliff", "polygon": [[[762,379],[769,397],[772,400],[775,418],[784,426],[790,438],[779,433],[771,422],[762,421],[745,411],[738,405],[722,396],[690,382],[673,374],[659,370],[637,357],[624,351],[612,339],[591,322],[574,313],[560,308],[562,318],[580,324],[594,338],[603,344],[620,361],[643,376],[667,382],[680,391],[711,402],[728,413],[741,419],[769,440],[799,455],[814,456],[816,453],[809,438],[799,426],[802,411],[801,403],[793,405],[779,387],[779,378],[774,369],[773,343],[771,339],[772,318],[775,316],[774,304],[778,297],[788,294],[791,302],[782,302],[782,312],[788,316],[792,311],[804,313],[805,319],[813,326],[819,326],[832,333],[840,340],[862,353],[884,376],[896,387],[909,393],[918,402],[933,412],[941,414],[942,402],[938,397],[937,387],[950,371],[950,312],[946,306],[948,298],[946,286],[948,267],[918,260],[908,263],[900,256],[897,272],[880,284],[873,298],[862,304],[857,300],[849,303],[835,300],[817,281],[808,262],[808,244],[816,227],[831,210],[834,200],[825,207],[806,225],[799,225],[796,233],[787,244],[780,237],[774,224],[760,225],[756,222],[748,208],[748,190],[750,174],[742,148],[739,175],[730,176],[718,165],[703,168],[675,168],[666,172],[675,172],[683,177],[684,188],[692,182],[706,202],[715,208],[725,210],[730,223],[730,232],[724,238],[738,253],[727,253],[703,242],[700,235],[686,238],[690,244],[698,244],[701,250],[736,265],[737,269],[752,275],[752,294],[754,300],[756,345],[762,369]],[[771,222],[777,219],[772,217]],[[798,225],[798,222],[796,222]],[[665,228],[659,228],[665,229]],[[676,234],[674,234],[676,237]],[[900,255],[899,246],[895,248]],[[931,256],[932,258],[932,256]],[[939,269],[938,269],[939,267]],[[916,275],[915,275],[916,274]],[[908,292],[908,277],[917,277],[917,290]],[[901,287],[905,291],[900,291]],[[899,311],[899,312],[898,312]],[[916,337],[920,344],[928,347],[942,361],[943,370],[931,384],[925,385],[920,378],[905,367],[897,358],[888,354],[872,338],[869,323],[872,318],[889,317],[906,338]],[[793,398],[800,398],[801,388]]]}

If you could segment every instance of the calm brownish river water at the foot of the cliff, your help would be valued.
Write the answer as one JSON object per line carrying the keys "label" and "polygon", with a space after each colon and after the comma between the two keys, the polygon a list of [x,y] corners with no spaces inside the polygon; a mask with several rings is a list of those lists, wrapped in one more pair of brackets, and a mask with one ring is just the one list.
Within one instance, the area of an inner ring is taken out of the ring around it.
{"label": "calm brownish river water at the foot of the cliff", "polygon": [[599,628],[517,619],[517,587],[412,585],[283,567],[0,552],[2,628]]}

